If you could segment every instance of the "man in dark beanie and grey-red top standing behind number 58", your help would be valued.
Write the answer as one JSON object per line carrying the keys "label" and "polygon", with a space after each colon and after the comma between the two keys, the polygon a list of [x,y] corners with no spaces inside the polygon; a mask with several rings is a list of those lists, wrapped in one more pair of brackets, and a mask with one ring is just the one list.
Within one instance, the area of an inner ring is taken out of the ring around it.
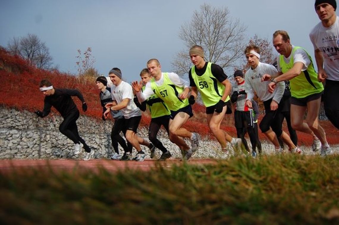
{"label": "man in dark beanie and grey-red top standing behind number 58", "polygon": [[[234,124],[237,129],[237,136],[241,138],[247,152],[250,152],[248,148],[247,141],[245,139],[245,134],[248,132],[250,136],[250,141],[252,144],[252,156],[257,156],[257,141],[258,137],[254,130],[254,113],[252,108],[246,106],[246,97],[245,92],[245,80],[242,70],[236,70],[234,72],[234,79],[236,84],[233,86],[233,94],[231,96],[231,102],[236,103],[236,108],[234,109]],[[253,102],[252,102],[253,103]]]}

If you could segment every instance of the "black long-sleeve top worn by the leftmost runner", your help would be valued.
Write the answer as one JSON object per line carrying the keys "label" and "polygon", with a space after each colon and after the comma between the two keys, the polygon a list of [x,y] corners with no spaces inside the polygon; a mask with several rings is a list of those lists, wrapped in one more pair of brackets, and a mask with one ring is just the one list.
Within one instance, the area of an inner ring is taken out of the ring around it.
{"label": "black long-sleeve top worn by the leftmost runner", "polygon": [[82,103],[85,102],[82,94],[75,89],[55,89],[53,95],[45,97],[42,116],[45,117],[51,112],[52,106],[58,110],[63,118],[69,113],[78,110],[71,96],[77,96]]}

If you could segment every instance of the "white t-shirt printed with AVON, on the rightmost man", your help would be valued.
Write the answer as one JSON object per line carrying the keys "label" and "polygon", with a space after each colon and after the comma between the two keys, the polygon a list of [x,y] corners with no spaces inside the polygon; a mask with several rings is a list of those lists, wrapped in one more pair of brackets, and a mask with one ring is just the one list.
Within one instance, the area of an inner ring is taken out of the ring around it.
{"label": "white t-shirt printed with AVON, on the rightmost man", "polygon": [[314,49],[319,49],[324,58],[324,70],[329,80],[339,81],[339,17],[330,27],[318,23],[310,32]]}

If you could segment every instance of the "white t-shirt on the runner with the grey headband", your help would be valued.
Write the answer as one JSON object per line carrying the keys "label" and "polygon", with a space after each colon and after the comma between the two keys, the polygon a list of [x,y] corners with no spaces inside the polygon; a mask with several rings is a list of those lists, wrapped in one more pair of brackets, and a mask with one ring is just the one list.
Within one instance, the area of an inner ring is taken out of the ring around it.
{"label": "white t-shirt on the runner with the grey headband", "polygon": [[121,81],[121,83],[118,86],[112,85],[111,95],[112,95],[112,100],[117,101],[118,104],[122,102],[123,99],[126,99],[126,98],[129,99],[128,105],[125,108],[120,109],[125,119],[141,116],[140,109],[135,105],[133,101],[134,95],[132,91],[132,86],[129,83],[126,83],[125,81]]}

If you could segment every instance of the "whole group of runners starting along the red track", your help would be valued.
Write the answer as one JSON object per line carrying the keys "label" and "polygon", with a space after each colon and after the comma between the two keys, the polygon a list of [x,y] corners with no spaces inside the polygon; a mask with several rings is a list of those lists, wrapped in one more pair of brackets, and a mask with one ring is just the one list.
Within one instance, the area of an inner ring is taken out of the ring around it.
{"label": "whole group of runners starting along the red track", "polygon": [[[259,47],[247,46],[244,55],[251,68],[245,75],[241,70],[235,71],[236,84],[233,88],[220,66],[205,61],[203,48],[198,45],[189,51],[193,63],[188,72],[189,82],[176,73],[162,72],[160,62],[155,58],[148,60],[147,68],[141,71],[141,82],[134,81],[130,85],[123,81],[118,68],[109,71],[109,80],[112,81],[110,88],[107,87],[106,77],[98,77],[96,83],[100,89],[102,119],[106,120],[109,114],[115,119],[111,132],[114,148],[112,159],[143,161],[145,153],[140,145],[149,148],[151,158],[155,156],[156,148],[162,152],[159,160],[171,157],[171,152],[157,139],[161,126],[167,131],[169,140],[181,150],[183,160],[190,159],[198,150],[201,138],[183,125],[193,116],[192,105],[198,93],[206,107],[208,127],[219,142],[220,150],[226,154],[227,143],[236,153],[244,149],[251,153],[244,138],[246,132],[250,136],[252,156],[257,156],[256,149],[261,153],[255,94],[263,101],[265,108],[259,128],[274,144],[277,153],[282,152],[282,142],[290,152],[301,153],[295,133],[295,130],[299,130],[313,136],[313,151],[321,150],[322,156],[331,154],[325,132],[319,125],[318,114],[323,94],[326,116],[339,129],[339,22],[335,14],[336,1],[316,0],[315,10],[321,22],[311,31],[310,39],[315,49],[318,74],[311,56],[303,48],[292,45],[286,31],[277,30],[273,34],[273,46],[279,53],[276,67],[260,62]],[[325,80],[324,89],[322,82]],[[79,110],[71,98],[77,96],[86,111],[87,105],[81,93],[77,90],[54,89],[48,80],[41,81],[40,90],[45,95],[45,104],[43,111],[36,111],[36,114],[44,117],[54,106],[64,118],[59,130],[74,142],[74,153],[79,154],[84,148],[84,160],[91,159],[94,151],[79,136],[76,125]],[[236,138],[220,129],[225,114],[232,113],[231,102],[236,104]],[[137,135],[141,111],[146,108],[152,118],[148,132],[150,142]],[[289,125],[290,135],[282,130],[284,118]],[[121,131],[127,144],[120,136]],[[191,141],[191,145],[186,144],[185,138]],[[118,143],[124,150],[123,155],[119,154]],[[133,147],[137,150],[135,158],[132,158]]]}

